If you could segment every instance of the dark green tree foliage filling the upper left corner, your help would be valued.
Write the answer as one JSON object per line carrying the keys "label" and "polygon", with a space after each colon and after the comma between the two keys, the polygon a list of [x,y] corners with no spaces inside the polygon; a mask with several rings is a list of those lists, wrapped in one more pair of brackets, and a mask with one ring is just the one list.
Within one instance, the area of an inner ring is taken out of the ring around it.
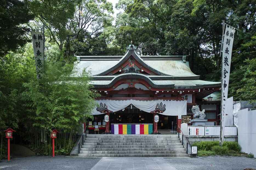
{"label": "dark green tree foliage filling the upper left corner", "polygon": [[0,3],[0,57],[16,51],[30,40],[25,36],[29,28],[21,26],[34,19],[27,1],[2,0]]}

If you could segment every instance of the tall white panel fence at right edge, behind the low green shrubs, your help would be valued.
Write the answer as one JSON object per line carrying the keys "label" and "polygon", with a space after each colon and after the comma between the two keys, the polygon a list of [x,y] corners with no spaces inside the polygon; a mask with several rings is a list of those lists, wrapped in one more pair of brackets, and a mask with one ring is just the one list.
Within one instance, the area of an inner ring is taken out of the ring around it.
{"label": "tall white panel fence at right edge, behind the low green shrubs", "polygon": [[238,143],[242,152],[252,153],[256,158],[256,110],[238,111]]}

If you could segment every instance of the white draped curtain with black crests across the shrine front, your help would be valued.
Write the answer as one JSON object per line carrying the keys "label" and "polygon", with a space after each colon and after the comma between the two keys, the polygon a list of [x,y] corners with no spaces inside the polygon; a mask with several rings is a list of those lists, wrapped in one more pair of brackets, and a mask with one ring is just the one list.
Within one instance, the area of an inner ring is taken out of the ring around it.
{"label": "white draped curtain with black crests across the shrine front", "polygon": [[167,116],[181,116],[187,115],[187,100],[95,100],[98,103],[98,109],[95,107],[92,111],[92,115],[104,114],[97,110],[107,108],[111,112],[117,112],[129,106],[134,105],[144,112],[153,112],[158,108],[164,110],[163,113],[159,113]]}

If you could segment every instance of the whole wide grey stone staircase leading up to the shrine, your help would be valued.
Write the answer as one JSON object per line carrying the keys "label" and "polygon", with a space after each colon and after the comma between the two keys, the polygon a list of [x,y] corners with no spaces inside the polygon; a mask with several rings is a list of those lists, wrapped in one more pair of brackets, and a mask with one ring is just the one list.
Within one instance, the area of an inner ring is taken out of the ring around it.
{"label": "whole wide grey stone staircase leading up to the shrine", "polygon": [[188,157],[188,154],[176,134],[87,134],[78,156]]}

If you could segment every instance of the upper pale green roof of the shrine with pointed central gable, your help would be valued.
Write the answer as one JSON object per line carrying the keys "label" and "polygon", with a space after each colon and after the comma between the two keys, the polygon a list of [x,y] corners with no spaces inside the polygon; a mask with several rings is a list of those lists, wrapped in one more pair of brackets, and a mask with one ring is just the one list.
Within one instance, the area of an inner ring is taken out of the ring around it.
{"label": "upper pale green roof of the shrine with pointed central gable", "polygon": [[[186,56],[139,56],[135,50],[128,50],[124,56],[76,56],[79,71],[90,71],[92,76],[112,75],[116,69],[133,57],[141,66],[155,76],[177,77],[180,79],[199,79],[186,61]],[[113,75],[114,76],[114,75]]]}

